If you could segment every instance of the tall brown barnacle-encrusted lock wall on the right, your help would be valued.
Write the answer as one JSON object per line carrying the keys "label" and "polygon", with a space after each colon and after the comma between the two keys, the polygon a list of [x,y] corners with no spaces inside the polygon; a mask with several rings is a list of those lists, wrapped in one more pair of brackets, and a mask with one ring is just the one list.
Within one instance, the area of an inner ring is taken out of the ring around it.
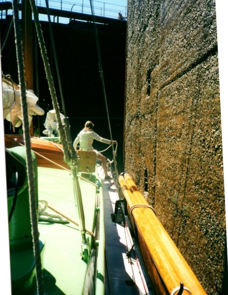
{"label": "tall brown barnacle-encrusted lock wall on the right", "polygon": [[215,0],[129,0],[125,171],[207,294],[228,294]]}

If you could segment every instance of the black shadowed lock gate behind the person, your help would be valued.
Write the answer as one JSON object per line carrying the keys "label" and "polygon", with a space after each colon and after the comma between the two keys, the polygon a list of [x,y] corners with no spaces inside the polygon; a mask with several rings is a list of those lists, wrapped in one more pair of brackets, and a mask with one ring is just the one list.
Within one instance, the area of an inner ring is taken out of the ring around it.
{"label": "black shadowed lock gate behind the person", "polygon": [[[15,83],[18,81],[17,61],[13,26],[7,36],[11,18],[0,20],[1,42],[6,41],[1,52],[2,71],[9,74]],[[52,51],[49,25],[41,22],[47,55],[51,66],[57,98],[63,113],[58,76]],[[93,23],[69,21],[63,25],[52,23],[60,80],[65,101],[66,116],[69,117],[72,139],[77,136],[87,120],[95,124],[95,131],[104,138],[110,138],[104,93],[102,89],[98,52]],[[112,138],[118,141],[117,165],[123,172],[123,124],[125,96],[126,60],[126,21],[112,20],[110,24],[97,24],[98,44],[104,77],[104,87],[110,118]],[[50,91],[46,80],[43,61],[40,55],[36,32],[33,24],[33,85],[39,97],[38,103],[44,109],[44,116],[34,116],[34,130],[39,128],[43,136],[43,123],[46,114],[53,109]],[[13,133],[10,123],[4,121],[5,133]],[[18,129],[18,128],[16,128]],[[18,133],[18,130],[16,130]],[[94,142],[94,148],[103,150],[106,145]],[[109,149],[103,153],[112,159]]]}

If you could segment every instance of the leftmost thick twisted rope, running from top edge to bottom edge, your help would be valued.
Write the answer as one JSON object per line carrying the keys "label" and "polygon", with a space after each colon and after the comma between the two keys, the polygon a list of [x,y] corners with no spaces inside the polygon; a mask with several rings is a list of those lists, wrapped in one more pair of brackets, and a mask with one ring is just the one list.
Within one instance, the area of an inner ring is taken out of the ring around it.
{"label": "leftmost thick twisted rope, running from top edge to bottom edge", "polygon": [[36,268],[36,283],[37,283],[37,293],[38,295],[43,295],[43,280],[42,280],[42,270],[41,270],[41,258],[40,258],[40,246],[39,246],[39,233],[37,225],[37,214],[36,214],[36,200],[35,200],[35,180],[33,173],[33,159],[31,151],[30,142],[30,132],[29,132],[29,117],[26,99],[26,85],[25,85],[25,75],[24,75],[24,59],[22,50],[22,40],[21,40],[21,28],[19,21],[19,9],[18,1],[13,0],[13,20],[14,20],[14,32],[15,32],[15,42],[16,42],[16,55],[18,63],[18,75],[19,84],[21,86],[21,103],[23,111],[23,135],[26,148],[26,163],[27,163],[27,174],[29,183],[29,201],[30,201],[30,217],[32,224],[32,237],[33,237],[33,251],[35,258],[35,268]]}

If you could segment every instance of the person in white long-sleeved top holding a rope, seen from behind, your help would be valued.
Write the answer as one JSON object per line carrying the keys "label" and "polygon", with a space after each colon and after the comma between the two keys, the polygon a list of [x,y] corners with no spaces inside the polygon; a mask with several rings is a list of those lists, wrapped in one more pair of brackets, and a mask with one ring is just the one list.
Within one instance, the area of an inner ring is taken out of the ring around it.
{"label": "person in white long-sleeved top holding a rope, seen from behind", "polygon": [[[101,153],[99,153],[96,149],[93,148],[93,141],[97,140],[104,144],[111,144],[111,140],[100,137],[96,132],[94,132],[94,123],[91,121],[87,121],[85,123],[85,127],[79,132],[77,137],[74,140],[73,147],[75,150],[77,149],[77,144],[80,143],[80,150],[93,150],[97,153],[97,159],[101,161],[102,168],[104,170],[104,179],[110,179],[108,176],[107,166],[106,166],[106,158]],[[117,144],[117,141],[113,140],[112,143],[114,145]]]}

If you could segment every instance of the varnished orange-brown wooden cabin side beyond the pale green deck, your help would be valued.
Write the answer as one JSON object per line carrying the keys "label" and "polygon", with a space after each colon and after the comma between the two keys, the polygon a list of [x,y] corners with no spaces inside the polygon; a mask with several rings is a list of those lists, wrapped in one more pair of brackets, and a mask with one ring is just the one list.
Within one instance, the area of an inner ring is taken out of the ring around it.
{"label": "varnished orange-brown wooden cabin side beyond the pale green deck", "polygon": [[[6,148],[18,147],[19,145],[24,145],[24,138],[22,135],[5,135]],[[69,169],[69,166],[64,162],[62,145],[38,137],[31,137],[31,145],[32,150],[36,152],[37,165],[39,167],[61,169],[61,167],[58,166],[61,165]]]}

